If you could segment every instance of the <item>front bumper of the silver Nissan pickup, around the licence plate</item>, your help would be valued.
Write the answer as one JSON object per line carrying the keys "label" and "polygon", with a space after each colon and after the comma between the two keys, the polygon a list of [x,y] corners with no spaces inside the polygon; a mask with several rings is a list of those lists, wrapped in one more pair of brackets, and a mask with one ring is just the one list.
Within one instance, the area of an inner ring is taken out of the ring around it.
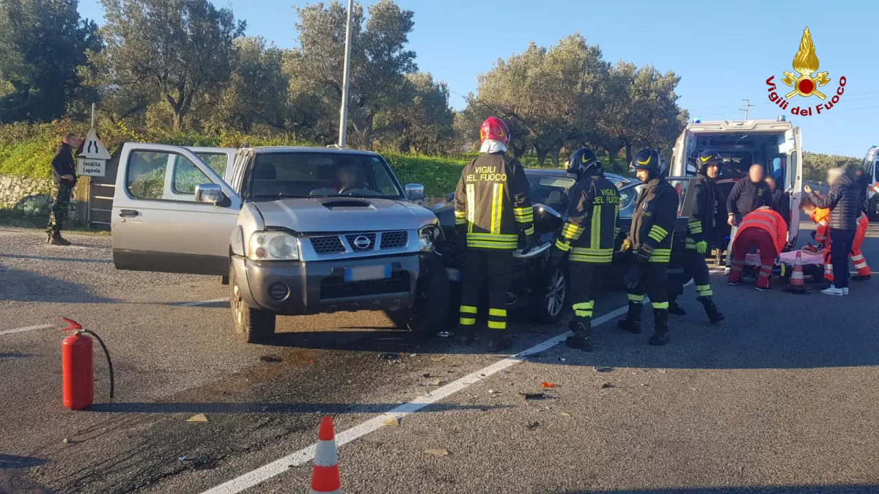
{"label": "front bumper of the silver Nissan pickup, around the licence plate", "polygon": [[[244,301],[284,316],[407,308],[420,272],[418,254],[309,263],[236,257],[232,264]],[[351,280],[352,269],[374,266],[385,266],[384,278]]]}

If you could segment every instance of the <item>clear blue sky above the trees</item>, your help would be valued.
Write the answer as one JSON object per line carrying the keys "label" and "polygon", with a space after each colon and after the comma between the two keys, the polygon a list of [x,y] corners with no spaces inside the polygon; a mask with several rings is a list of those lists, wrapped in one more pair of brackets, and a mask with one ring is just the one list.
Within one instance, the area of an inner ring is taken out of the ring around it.
{"label": "clear blue sky above the trees", "polygon": [[[363,4],[374,4],[366,0]],[[262,35],[280,47],[296,45],[293,0],[214,0],[231,4],[237,18],[247,20],[247,33]],[[879,47],[875,19],[879,4],[814,2],[810,0],[506,0],[475,4],[465,0],[397,0],[415,12],[410,47],[418,67],[446,81],[459,95],[476,90],[476,76],[498,58],[519,53],[529,41],[548,46],[575,31],[601,47],[605,59],[653,64],[673,70],[681,81],[679,105],[702,120],[737,120],[750,98],[750,118],[774,119],[782,112],[769,102],[766,78],[792,71],[791,61],[808,25],[820,70],[831,82],[846,76],[845,93],[832,110],[788,120],[803,127],[803,149],[846,156],[864,156],[879,144]],[[490,9],[498,5],[498,10]],[[84,17],[101,23],[98,0],[80,0]],[[781,84],[780,84],[781,85]],[[780,91],[787,86],[781,85]],[[787,92],[787,91],[785,91]],[[829,98],[829,96],[828,96]],[[817,105],[817,98],[794,97],[790,106]]]}

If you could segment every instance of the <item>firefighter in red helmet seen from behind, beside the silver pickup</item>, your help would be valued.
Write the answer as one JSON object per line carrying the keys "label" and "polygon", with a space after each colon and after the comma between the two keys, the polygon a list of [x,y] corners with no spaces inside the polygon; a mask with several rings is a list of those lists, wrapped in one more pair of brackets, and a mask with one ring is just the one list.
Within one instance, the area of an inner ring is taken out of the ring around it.
{"label": "firefighter in red helmet seen from behind, beside the silver pickup", "polygon": [[534,246],[534,210],[528,181],[519,160],[506,156],[510,132],[503,120],[490,117],[479,128],[480,156],[461,172],[454,194],[454,223],[466,241],[457,338],[472,345],[483,284],[488,283],[489,351],[512,347],[506,335],[507,291],[512,279],[512,251],[519,235],[525,250]]}

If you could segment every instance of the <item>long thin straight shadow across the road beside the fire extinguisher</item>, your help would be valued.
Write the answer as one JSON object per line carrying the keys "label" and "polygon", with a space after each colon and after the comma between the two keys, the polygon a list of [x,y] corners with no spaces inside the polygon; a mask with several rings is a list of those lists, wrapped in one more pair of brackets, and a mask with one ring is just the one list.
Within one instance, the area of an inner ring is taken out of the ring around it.
{"label": "long thin straight shadow across the road beside the fire extinguisher", "polygon": [[[105,413],[384,413],[396,403],[97,403],[89,411]],[[421,412],[449,410],[485,410],[507,408],[508,405],[463,405],[433,403]],[[0,464],[2,464],[0,455]]]}

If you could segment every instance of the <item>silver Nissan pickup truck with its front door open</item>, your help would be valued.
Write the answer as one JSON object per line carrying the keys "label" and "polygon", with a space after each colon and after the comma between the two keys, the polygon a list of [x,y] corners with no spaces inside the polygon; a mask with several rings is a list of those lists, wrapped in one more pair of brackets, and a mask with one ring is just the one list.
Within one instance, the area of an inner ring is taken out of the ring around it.
{"label": "silver Nissan pickup truck with its front door open", "polygon": [[[113,166],[114,163],[111,163]],[[367,151],[126,143],[111,228],[117,269],[222,276],[235,330],[277,315],[383,310],[432,332],[448,314],[436,216]],[[429,302],[428,302],[429,301]]]}

